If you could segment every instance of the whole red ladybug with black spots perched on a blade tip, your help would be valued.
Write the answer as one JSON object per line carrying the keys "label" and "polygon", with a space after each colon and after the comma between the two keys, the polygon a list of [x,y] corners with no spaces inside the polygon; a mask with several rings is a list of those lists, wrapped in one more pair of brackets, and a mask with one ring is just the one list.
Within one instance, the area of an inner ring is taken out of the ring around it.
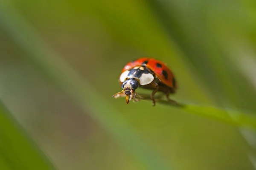
{"label": "whole red ladybug with black spots perched on a blade tip", "polygon": [[123,90],[114,94],[113,97],[125,96],[127,104],[131,99],[134,99],[135,102],[138,101],[135,92],[138,87],[153,90],[150,96],[153,106],[155,105],[154,94],[157,91],[163,92],[166,94],[168,101],[177,104],[177,102],[169,99],[169,94],[174,94],[177,89],[174,75],[166,64],[157,59],[143,57],[128,62],[119,76],[119,83]]}

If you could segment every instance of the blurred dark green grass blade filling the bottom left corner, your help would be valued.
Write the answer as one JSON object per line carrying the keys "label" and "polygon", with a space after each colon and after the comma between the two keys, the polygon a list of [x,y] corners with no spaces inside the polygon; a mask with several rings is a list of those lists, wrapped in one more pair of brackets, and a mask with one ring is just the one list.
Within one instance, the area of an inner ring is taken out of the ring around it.
{"label": "blurred dark green grass blade filling the bottom left corner", "polygon": [[26,136],[24,130],[0,101],[0,167],[1,170],[54,170],[42,151]]}

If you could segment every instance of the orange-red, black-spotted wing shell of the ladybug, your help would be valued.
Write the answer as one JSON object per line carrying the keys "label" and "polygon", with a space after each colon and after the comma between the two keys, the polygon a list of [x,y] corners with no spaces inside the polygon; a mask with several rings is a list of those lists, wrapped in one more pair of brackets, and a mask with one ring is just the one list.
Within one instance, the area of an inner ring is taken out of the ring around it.
{"label": "orange-red, black-spotted wing shell of the ladybug", "polygon": [[141,65],[144,65],[153,71],[156,78],[158,78],[163,84],[171,88],[177,88],[177,82],[175,81],[172,71],[167,67],[165,63],[154,58],[143,57],[135,61],[128,62],[122,69],[122,73],[126,70],[130,70],[131,68]]}

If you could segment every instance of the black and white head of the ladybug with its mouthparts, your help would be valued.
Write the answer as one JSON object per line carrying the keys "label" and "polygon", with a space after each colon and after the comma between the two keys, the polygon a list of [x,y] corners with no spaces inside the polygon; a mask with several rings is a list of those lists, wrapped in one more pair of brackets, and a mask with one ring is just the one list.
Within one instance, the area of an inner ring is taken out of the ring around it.
{"label": "black and white head of the ladybug with its mouthparts", "polygon": [[134,97],[134,91],[138,88],[138,86],[139,82],[133,78],[127,79],[123,82],[122,89],[125,92],[127,104]]}

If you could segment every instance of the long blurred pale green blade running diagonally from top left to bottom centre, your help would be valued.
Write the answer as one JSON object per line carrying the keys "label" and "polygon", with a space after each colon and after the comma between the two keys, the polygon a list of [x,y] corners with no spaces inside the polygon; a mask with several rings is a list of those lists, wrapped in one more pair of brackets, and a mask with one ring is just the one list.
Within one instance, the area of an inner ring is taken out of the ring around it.
{"label": "long blurred pale green blade running diagonally from top left to bottom centre", "polygon": [[[9,3],[0,6],[0,20],[6,31],[26,51],[27,59],[35,62],[59,88],[65,91],[84,111],[91,108],[90,116],[98,120],[120,144],[137,157],[147,169],[170,170],[170,163],[161,159],[140,136],[127,125],[115,108],[76,73],[58,54],[49,50],[33,28]],[[90,89],[90,91],[85,91]],[[99,107],[100,103],[100,107]]]}

